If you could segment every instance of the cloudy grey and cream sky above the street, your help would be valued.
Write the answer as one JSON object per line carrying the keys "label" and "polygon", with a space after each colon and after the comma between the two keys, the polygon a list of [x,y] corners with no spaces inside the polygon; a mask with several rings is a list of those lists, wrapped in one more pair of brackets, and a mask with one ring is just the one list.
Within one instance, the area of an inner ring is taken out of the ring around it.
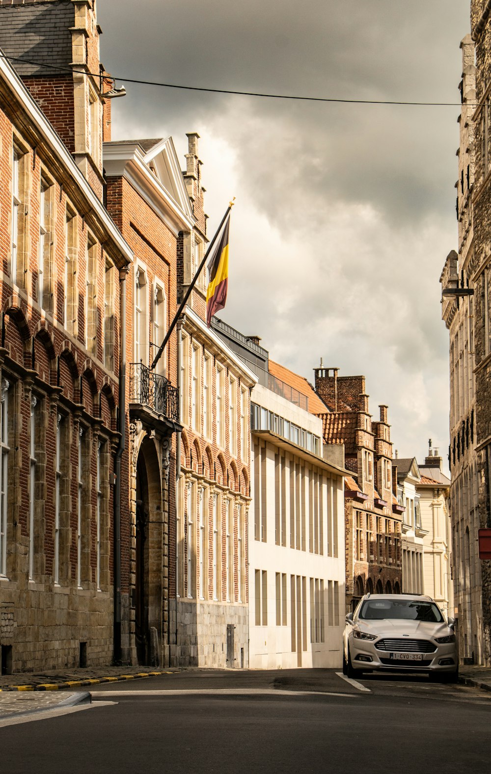
{"label": "cloudy grey and cream sky above the street", "polygon": [[394,448],[448,447],[439,277],[456,248],[458,102],[468,0],[98,0],[101,60],[127,96],[113,139],[201,135],[210,236],[236,197],[221,318],[313,381],[366,375]]}

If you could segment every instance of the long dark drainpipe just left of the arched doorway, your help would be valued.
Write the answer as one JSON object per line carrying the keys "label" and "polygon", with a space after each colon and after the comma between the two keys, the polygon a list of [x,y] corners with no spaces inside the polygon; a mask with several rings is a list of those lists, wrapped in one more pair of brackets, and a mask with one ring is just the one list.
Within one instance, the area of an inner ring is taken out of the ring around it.
{"label": "long dark drainpipe just left of the arched doorway", "polygon": [[122,660],[121,648],[121,458],[125,450],[126,417],[126,275],[129,268],[119,271],[119,445],[115,458],[114,494],[114,660]]}

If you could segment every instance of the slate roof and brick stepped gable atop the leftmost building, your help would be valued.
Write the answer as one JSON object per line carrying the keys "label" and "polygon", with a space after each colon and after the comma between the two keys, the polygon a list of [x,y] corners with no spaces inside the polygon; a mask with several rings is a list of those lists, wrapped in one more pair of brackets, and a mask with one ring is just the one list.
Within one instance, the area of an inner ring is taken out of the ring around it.
{"label": "slate roof and brick stepped gable atop the leftmost building", "polygon": [[0,48],[36,62],[11,60],[98,197],[103,124],[105,139],[111,125],[102,94],[112,84],[99,59],[100,34],[94,0],[0,0]]}

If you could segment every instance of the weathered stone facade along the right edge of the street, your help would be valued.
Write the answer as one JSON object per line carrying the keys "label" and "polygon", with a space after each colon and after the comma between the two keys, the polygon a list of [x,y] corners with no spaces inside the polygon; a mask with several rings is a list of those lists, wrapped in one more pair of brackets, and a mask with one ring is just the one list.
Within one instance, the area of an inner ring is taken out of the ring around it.
{"label": "weathered stone facade along the right edge of the street", "polygon": [[471,663],[488,665],[491,570],[489,562],[479,560],[477,531],[491,525],[490,8],[483,0],[471,3],[472,36],[466,36],[461,44],[458,255],[453,251],[448,255],[441,274],[442,317],[450,333],[450,515],[460,653]]}

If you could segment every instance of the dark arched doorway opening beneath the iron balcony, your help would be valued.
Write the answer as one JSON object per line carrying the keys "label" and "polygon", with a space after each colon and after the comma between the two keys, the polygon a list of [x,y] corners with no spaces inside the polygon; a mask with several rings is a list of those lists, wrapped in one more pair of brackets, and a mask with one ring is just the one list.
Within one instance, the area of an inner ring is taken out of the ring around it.
{"label": "dark arched doorway opening beneath the iron balcony", "polygon": [[139,665],[156,665],[156,628],[162,636],[163,508],[160,467],[153,440],[145,438],[136,462],[135,647]]}

